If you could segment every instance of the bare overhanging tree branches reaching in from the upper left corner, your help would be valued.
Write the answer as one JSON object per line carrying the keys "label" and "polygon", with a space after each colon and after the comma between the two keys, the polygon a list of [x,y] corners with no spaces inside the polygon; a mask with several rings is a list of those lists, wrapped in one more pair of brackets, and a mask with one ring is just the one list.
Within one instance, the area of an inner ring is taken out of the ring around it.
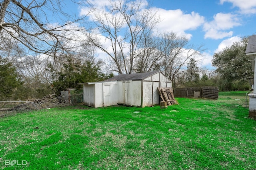
{"label": "bare overhanging tree branches reaching in from the upper left corner", "polygon": [[70,50],[74,45],[66,44],[78,41],[70,32],[78,30],[72,24],[79,19],[63,12],[64,4],[60,0],[3,0],[0,2],[0,33],[36,53],[54,56]]}

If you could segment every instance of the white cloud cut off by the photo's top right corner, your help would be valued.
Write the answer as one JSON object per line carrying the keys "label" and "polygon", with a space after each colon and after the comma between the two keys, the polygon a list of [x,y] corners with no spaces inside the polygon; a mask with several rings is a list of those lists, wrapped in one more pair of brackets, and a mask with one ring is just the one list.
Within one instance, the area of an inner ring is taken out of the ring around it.
{"label": "white cloud cut off by the photo's top right corner", "polygon": [[224,2],[232,3],[242,14],[256,14],[256,0],[220,0],[220,4]]}

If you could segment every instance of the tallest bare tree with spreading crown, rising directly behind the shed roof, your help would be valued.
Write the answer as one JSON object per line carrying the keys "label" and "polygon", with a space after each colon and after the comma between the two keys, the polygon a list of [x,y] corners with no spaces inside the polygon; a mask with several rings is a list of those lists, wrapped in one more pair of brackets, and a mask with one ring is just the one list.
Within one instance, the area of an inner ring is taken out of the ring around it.
{"label": "tallest bare tree with spreading crown, rising directly behind the shed roof", "polygon": [[[147,39],[143,37],[152,33],[159,18],[156,11],[142,0],[108,2],[108,5],[101,6],[101,9],[88,3],[93,9],[90,15],[96,27],[93,31],[86,32],[87,43],[98,47],[110,57],[115,64],[112,70],[119,74],[132,73],[138,51],[144,48],[141,44],[147,43]],[[106,43],[109,44],[104,45]]]}

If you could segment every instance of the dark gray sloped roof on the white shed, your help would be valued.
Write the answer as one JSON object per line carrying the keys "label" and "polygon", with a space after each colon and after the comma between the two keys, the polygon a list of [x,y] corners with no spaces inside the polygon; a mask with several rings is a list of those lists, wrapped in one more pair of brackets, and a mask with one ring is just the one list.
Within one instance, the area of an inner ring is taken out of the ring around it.
{"label": "dark gray sloped roof on the white shed", "polygon": [[136,74],[119,74],[118,76],[114,76],[112,78],[104,80],[103,82],[120,81],[120,80],[144,80],[145,78],[148,78],[149,76],[156,74],[157,72],[160,72],[160,71],[142,72],[142,73],[136,73]]}

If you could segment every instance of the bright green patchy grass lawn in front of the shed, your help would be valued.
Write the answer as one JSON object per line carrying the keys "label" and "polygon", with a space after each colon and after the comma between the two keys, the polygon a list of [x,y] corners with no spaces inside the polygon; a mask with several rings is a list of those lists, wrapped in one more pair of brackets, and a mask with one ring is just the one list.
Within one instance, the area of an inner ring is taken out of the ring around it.
{"label": "bright green patchy grass lawn in front of the shed", "polygon": [[3,117],[0,168],[256,169],[245,94],[176,98],[167,109],[68,106]]}

